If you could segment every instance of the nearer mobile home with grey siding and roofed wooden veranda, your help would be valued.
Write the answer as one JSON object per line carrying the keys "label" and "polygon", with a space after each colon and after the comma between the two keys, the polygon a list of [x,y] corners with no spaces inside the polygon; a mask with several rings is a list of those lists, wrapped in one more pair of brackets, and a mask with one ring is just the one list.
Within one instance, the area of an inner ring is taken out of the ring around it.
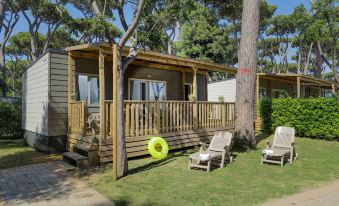
{"label": "nearer mobile home with grey siding and roofed wooden veranda", "polygon": [[[127,53],[126,48],[122,54]],[[35,62],[23,74],[27,142],[47,151],[94,145],[100,162],[112,161],[113,57],[107,44],[85,44],[66,52],[49,51]],[[148,154],[147,142],[153,136],[164,137],[170,149],[178,149],[198,145],[218,130],[233,131],[234,102],[207,101],[208,72],[236,70],[138,53],[124,74],[123,108],[118,108],[124,114],[128,157]],[[95,115],[100,126],[93,133],[88,117]]]}

